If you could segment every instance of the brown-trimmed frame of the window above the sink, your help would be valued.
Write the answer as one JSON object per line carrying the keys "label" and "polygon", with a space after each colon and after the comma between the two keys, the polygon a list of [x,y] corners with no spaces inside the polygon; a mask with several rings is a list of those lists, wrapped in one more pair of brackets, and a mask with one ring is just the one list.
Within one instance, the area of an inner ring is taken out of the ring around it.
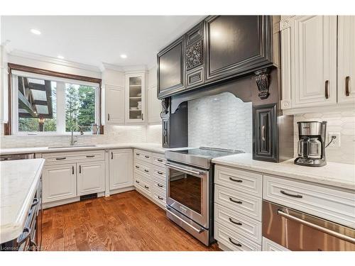
{"label": "brown-trimmed frame of the window above the sink", "polygon": [[[17,65],[13,63],[8,63],[8,73],[9,73],[9,84],[8,84],[8,91],[9,91],[9,98],[8,98],[8,106],[9,106],[9,121],[4,125],[4,135],[19,135],[19,136],[30,136],[30,135],[69,135],[69,132],[59,133],[58,131],[52,132],[21,132],[18,131],[18,121],[14,119],[18,118],[18,114],[14,113],[17,109],[17,106],[14,106],[14,103],[18,101],[14,97],[17,96],[17,92],[13,92],[13,71],[16,72],[27,72],[31,74],[39,74],[48,77],[56,77],[60,79],[67,79],[70,82],[75,83],[75,81],[81,82],[90,82],[99,84],[97,87],[97,92],[95,96],[95,108],[97,109],[97,124],[100,128],[100,135],[104,134],[104,126],[102,125],[102,79],[97,79],[94,77],[85,77],[76,74],[67,74],[62,72],[55,72],[52,70],[43,70],[36,67],[28,67],[25,65]],[[56,81],[55,79],[53,81]],[[69,83],[69,82],[68,82]],[[75,83],[80,84],[80,82]],[[57,120],[58,121],[58,120]],[[88,134],[86,134],[88,135]]]}

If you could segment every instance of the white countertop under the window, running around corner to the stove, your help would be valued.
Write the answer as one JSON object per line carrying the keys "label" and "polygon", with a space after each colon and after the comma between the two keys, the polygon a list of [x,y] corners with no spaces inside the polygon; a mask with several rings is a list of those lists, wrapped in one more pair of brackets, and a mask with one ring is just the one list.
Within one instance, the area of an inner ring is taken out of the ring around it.
{"label": "white countertop under the window, running around corner to the stove", "polygon": [[[94,144],[93,144],[94,145]],[[77,145],[80,146],[80,145]],[[165,150],[173,150],[162,148],[159,143],[111,143],[96,144],[94,147],[66,147],[66,148],[48,148],[48,147],[30,147],[30,148],[5,148],[0,149],[0,154],[18,154],[18,153],[59,153],[75,150],[104,150],[114,148],[137,148],[148,150],[154,153],[165,153]]]}

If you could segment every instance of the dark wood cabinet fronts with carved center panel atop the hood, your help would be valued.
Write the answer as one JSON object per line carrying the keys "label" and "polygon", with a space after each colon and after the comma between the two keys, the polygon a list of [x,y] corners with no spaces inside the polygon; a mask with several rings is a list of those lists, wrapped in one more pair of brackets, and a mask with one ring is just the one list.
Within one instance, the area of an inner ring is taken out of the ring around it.
{"label": "dark wood cabinet fronts with carved center panel atop the hood", "polygon": [[273,65],[278,21],[278,16],[205,18],[158,53],[158,98]]}

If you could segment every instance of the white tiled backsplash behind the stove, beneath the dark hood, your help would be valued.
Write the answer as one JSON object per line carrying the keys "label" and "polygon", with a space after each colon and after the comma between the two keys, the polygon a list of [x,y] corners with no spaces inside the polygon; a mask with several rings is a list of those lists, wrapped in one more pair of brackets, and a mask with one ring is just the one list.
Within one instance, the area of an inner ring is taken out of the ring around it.
{"label": "white tiled backsplash behind the stove, beneath the dark hood", "polygon": [[252,108],[228,92],[188,103],[189,146],[252,150]]}

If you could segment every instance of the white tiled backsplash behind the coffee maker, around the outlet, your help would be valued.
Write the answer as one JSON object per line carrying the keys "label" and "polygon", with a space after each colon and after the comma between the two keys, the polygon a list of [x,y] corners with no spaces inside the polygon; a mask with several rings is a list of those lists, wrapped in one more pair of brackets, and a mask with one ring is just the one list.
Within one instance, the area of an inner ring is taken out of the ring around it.
{"label": "white tiled backsplash behind the coffee maker, around the outlet", "polygon": [[[295,150],[297,157],[299,121],[327,121],[327,133],[340,133],[340,147],[325,148],[325,156],[329,162],[344,162],[355,164],[355,111],[329,112],[329,113],[304,113],[295,115]],[[329,143],[328,138],[326,144]]]}

